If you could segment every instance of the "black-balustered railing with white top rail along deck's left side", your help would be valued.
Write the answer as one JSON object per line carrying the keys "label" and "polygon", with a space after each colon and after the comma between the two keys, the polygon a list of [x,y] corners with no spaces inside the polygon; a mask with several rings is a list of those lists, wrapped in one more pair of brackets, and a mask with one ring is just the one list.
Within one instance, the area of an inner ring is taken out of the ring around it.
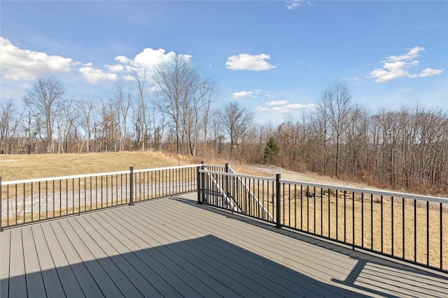
{"label": "black-balustered railing with white top rail along deck's left side", "polygon": [[197,165],[1,181],[0,229],[197,189]]}

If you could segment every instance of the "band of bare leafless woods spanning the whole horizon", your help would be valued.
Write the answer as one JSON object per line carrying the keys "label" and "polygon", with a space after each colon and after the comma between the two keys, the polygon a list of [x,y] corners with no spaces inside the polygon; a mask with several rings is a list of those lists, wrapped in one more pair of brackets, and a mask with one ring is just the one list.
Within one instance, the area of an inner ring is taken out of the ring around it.
{"label": "band of bare leafless woods spanning the whole horizon", "polygon": [[316,109],[278,126],[254,124],[236,101],[213,109],[213,82],[186,57],[152,74],[134,71],[111,98],[67,98],[61,82],[39,78],[23,105],[0,104],[3,154],[151,150],[271,163],[373,186],[423,194],[448,191],[448,110],[421,105],[365,110],[346,84],[325,89]]}

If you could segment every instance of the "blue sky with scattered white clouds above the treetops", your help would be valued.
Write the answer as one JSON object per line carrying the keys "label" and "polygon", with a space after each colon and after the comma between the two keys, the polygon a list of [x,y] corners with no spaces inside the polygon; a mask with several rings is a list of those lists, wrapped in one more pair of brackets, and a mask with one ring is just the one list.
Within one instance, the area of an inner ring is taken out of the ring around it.
{"label": "blue sky with scattered white clouds above the treetops", "polygon": [[[331,84],[371,110],[448,109],[447,1],[1,1],[0,100],[36,77],[108,98],[137,65],[186,54],[263,123],[298,119]],[[148,82],[151,88],[151,80]]]}

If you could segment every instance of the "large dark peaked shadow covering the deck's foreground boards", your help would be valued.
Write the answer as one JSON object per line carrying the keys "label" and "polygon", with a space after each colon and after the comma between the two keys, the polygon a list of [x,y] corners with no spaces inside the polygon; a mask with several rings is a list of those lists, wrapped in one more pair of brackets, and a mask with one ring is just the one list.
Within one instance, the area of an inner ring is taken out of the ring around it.
{"label": "large dark peaked shadow covering the deck's foreground boards", "polygon": [[[1,280],[0,294],[1,297],[356,295],[213,235],[11,276]],[[377,294],[384,295],[380,291]]]}

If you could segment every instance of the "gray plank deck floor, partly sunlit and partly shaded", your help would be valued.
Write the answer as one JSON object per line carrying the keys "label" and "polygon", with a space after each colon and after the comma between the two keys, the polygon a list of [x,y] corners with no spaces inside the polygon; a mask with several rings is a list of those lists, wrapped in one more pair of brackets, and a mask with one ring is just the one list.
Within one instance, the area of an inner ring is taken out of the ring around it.
{"label": "gray plank deck floor, partly sunlit and partly shaded", "polygon": [[448,297],[448,276],[165,198],[0,233],[0,297]]}

